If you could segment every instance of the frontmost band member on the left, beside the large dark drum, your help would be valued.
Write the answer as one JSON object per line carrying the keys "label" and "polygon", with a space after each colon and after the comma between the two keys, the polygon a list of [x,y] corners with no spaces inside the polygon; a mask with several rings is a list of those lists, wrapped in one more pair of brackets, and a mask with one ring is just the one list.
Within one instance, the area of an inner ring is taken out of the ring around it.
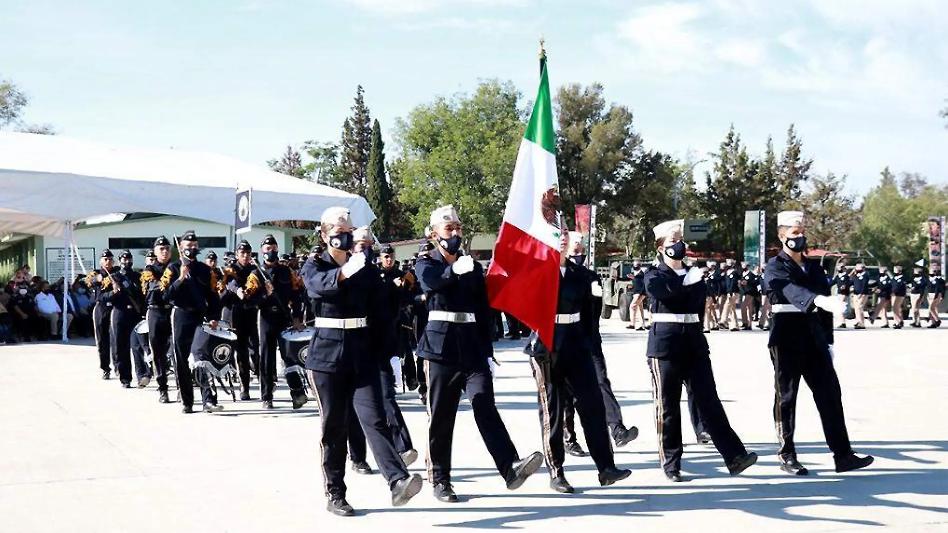
{"label": "frontmost band member on the left, beside the large dark drum", "polygon": [[[191,344],[194,332],[207,319],[211,329],[217,329],[221,315],[221,301],[217,295],[217,279],[214,272],[197,260],[197,235],[186,231],[178,243],[181,258],[173,262],[161,275],[159,285],[172,304],[172,350],[174,353],[174,377],[178,382],[178,394],[184,404],[182,413],[193,413],[194,388],[191,385]],[[208,372],[198,368],[194,372],[201,387],[201,403],[205,413],[216,413],[224,408],[217,405],[217,398],[210,386]]]}

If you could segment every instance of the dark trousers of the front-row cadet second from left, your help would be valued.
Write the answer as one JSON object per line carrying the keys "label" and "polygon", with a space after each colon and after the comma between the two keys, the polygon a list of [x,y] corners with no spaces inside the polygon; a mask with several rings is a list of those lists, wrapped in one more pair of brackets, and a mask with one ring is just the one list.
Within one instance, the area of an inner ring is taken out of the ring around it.
{"label": "dark trousers of the front-row cadet second from left", "polygon": [[425,377],[428,379],[428,482],[432,485],[451,481],[454,420],[462,392],[470,402],[483,443],[504,479],[519,459],[517,447],[510,439],[494,403],[494,381],[486,360],[483,366],[483,369],[465,370],[425,359]]}

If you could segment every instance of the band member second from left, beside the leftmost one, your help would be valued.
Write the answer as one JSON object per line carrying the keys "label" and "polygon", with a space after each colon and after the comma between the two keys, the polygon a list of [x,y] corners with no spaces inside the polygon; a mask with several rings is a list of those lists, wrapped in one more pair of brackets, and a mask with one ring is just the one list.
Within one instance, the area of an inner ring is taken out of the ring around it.
{"label": "band member second from left, beside the leftmost one", "polygon": [[[134,335],[135,326],[141,321],[141,317],[132,303],[132,298],[138,298],[140,295],[132,294],[132,291],[140,291],[139,274],[132,269],[132,252],[124,250],[118,255],[118,262],[121,267],[112,277],[113,284],[120,282],[122,278],[127,281],[130,290],[121,289],[121,285],[114,285],[112,289],[112,316],[109,320],[109,343],[112,347],[112,360],[118,361],[116,368],[118,379],[121,386],[125,389],[132,388],[132,335]],[[136,365],[137,366],[137,365]],[[140,371],[140,368],[137,370]]]}

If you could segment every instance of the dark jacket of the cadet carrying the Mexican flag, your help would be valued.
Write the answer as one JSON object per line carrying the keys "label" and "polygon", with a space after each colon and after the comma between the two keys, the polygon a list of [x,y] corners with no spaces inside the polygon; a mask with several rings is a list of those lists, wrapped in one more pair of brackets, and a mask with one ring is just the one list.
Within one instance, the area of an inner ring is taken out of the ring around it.
{"label": "dark jacket of the cadet carrying the Mexican flag", "polygon": [[[557,323],[553,329],[554,351],[558,354],[585,355],[589,357],[597,337],[599,318],[593,314],[593,280],[589,269],[566,263],[566,272],[559,279],[559,295],[556,299],[557,315],[579,314],[579,322]],[[593,274],[594,276],[594,274]],[[596,279],[598,281],[598,278]],[[601,344],[600,344],[601,345]],[[524,353],[536,358],[549,356],[549,350],[539,340],[537,333],[530,336]]]}

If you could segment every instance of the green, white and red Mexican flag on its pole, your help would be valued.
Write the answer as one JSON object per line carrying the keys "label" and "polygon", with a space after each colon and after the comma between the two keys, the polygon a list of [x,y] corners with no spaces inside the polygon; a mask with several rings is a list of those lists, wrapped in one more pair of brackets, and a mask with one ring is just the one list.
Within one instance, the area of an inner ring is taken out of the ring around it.
{"label": "green, white and red Mexican flag on its pole", "polygon": [[559,293],[559,241],[562,231],[556,179],[556,137],[546,58],[540,57],[537,102],[520,141],[514,180],[503,224],[487,271],[487,294],[553,346]]}

